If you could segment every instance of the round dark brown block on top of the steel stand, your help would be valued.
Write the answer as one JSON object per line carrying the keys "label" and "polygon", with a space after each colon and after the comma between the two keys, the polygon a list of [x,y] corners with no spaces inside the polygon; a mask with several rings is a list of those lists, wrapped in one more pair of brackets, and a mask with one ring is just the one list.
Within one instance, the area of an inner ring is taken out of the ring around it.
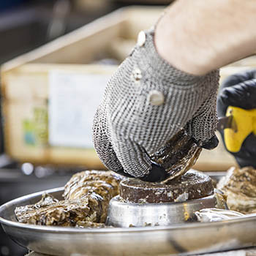
{"label": "round dark brown block on top of the steel stand", "polygon": [[120,183],[120,196],[131,203],[182,202],[206,197],[213,192],[211,178],[196,170],[189,170],[184,176],[168,181],[167,184],[133,178]]}

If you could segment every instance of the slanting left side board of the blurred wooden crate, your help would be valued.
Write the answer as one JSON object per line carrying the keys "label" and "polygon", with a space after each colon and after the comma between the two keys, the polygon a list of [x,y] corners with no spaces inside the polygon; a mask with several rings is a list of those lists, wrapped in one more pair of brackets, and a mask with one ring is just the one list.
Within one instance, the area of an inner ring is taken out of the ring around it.
{"label": "slanting left side board of the blurred wooden crate", "polygon": [[104,52],[108,42],[120,34],[123,10],[99,18],[80,29],[59,37],[36,50],[23,54],[1,66],[1,74],[28,63],[84,64]]}

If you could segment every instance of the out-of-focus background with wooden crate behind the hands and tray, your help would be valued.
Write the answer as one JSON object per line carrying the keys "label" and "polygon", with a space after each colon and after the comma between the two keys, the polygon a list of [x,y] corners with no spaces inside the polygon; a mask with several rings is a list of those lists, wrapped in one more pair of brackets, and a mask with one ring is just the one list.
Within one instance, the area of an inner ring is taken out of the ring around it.
{"label": "out-of-focus background with wooden crate behind the hands and tray", "polygon": [[[0,205],[104,169],[91,125],[105,85],[170,0],[0,0]],[[255,56],[221,79],[255,67]],[[222,143],[195,168],[236,165]],[[0,255],[23,256],[0,227]]]}

